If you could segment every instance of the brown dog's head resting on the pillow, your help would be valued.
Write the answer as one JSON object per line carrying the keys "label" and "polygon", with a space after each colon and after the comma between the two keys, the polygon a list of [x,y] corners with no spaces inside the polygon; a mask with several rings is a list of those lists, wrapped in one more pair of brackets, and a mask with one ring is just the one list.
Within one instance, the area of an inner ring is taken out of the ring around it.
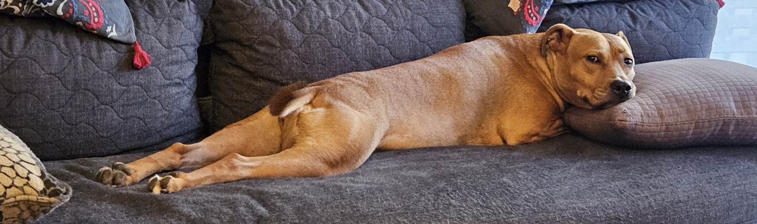
{"label": "brown dog's head resting on the pillow", "polygon": [[548,58],[555,91],[570,104],[600,109],[636,95],[634,54],[623,32],[557,24],[544,33],[541,54]]}

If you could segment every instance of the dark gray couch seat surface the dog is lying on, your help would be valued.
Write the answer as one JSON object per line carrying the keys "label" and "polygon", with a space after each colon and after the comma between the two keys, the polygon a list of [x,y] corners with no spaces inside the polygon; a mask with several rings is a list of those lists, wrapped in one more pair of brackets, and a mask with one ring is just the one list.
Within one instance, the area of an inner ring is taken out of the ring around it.
{"label": "dark gray couch seat surface the dog is lying on", "polygon": [[112,188],[91,180],[102,166],[146,154],[51,161],[45,166],[74,195],[40,223],[740,223],[757,219],[755,151],[634,151],[568,134],[378,152],[337,176],[175,194],[151,194],[146,181]]}

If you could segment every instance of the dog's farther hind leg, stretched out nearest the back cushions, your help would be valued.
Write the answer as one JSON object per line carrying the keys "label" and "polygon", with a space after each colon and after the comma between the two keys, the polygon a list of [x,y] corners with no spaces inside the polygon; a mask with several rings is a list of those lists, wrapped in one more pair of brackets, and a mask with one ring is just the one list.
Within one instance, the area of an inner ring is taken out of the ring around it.
{"label": "dog's farther hind leg, stretched out nearest the back cushions", "polygon": [[276,154],[280,151],[280,138],[278,117],[273,117],[266,107],[201,142],[192,145],[176,143],[132,163],[114,163],[111,167],[103,167],[95,176],[95,181],[105,185],[133,185],[153,173],[202,167],[229,154],[248,157]]}

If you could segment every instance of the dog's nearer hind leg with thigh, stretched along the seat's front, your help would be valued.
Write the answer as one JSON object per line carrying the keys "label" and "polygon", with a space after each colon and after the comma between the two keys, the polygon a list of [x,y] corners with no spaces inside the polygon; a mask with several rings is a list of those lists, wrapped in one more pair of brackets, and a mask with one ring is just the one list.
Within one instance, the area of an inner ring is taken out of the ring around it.
{"label": "dog's nearer hind leg with thigh, stretched along the seat's front", "polygon": [[229,154],[191,173],[151,179],[148,188],[159,194],[240,179],[347,173],[365,162],[382,138],[375,119],[350,109],[305,106],[289,116],[298,116],[291,148],[263,157]]}

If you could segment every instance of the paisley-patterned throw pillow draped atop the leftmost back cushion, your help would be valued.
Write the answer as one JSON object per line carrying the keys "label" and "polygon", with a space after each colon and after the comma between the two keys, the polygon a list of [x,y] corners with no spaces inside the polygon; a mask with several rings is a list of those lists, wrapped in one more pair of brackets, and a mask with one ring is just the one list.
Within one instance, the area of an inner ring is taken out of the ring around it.
{"label": "paisley-patterned throw pillow draped atop the leftmost back cushion", "polygon": [[59,17],[99,36],[132,44],[134,21],[123,0],[0,0],[0,13]]}

